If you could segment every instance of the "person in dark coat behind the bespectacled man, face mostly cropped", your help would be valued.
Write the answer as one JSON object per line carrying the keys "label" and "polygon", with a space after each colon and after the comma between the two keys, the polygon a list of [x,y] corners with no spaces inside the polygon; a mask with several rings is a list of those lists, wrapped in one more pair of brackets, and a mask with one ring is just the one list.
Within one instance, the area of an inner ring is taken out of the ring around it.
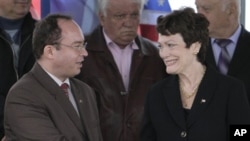
{"label": "person in dark coat behind the bespectacled man, face mostly cropped", "polygon": [[6,95],[35,62],[32,33],[36,20],[29,13],[30,5],[31,0],[0,0],[0,139]]}

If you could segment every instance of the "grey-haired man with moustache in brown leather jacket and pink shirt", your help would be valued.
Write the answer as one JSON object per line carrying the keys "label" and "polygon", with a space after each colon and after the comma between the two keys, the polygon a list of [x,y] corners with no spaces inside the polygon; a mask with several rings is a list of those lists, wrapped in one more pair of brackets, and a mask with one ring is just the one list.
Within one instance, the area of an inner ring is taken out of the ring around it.
{"label": "grey-haired man with moustache in brown leather jacket and pink shirt", "polygon": [[154,44],[137,36],[142,0],[100,0],[79,79],[97,94],[104,141],[138,141],[148,88],[165,75]]}

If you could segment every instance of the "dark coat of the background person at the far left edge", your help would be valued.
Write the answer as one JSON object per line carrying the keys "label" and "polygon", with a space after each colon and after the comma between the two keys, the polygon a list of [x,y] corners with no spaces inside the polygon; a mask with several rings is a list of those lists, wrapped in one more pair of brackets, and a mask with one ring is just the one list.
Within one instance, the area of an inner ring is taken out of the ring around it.
{"label": "dark coat of the background person at the far left edge", "polygon": [[35,62],[32,53],[32,35],[36,21],[31,14],[24,18],[20,30],[20,52],[18,69],[14,67],[13,51],[4,29],[0,28],[0,139],[4,136],[3,110],[6,95],[10,87],[25,73],[27,73]]}

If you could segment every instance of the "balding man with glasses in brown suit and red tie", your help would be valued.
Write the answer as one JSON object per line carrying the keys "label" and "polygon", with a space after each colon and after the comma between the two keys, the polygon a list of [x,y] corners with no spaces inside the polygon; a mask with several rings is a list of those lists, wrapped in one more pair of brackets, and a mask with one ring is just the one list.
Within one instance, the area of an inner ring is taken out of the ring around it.
{"label": "balding man with glasses in brown suit and red tie", "polygon": [[88,55],[80,27],[49,15],[36,25],[33,46],[37,63],[6,98],[6,140],[102,141],[94,91],[72,78]]}

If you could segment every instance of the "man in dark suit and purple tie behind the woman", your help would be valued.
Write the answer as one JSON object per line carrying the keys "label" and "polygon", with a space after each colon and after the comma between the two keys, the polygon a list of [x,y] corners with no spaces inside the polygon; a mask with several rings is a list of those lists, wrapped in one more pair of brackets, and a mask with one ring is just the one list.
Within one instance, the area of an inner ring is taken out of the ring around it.
{"label": "man in dark suit and purple tie behind the woman", "polygon": [[196,0],[197,10],[209,20],[210,45],[206,60],[214,68],[219,66],[221,48],[217,39],[229,39],[226,47],[229,64],[226,75],[244,82],[250,102],[250,33],[240,25],[240,0]]}

